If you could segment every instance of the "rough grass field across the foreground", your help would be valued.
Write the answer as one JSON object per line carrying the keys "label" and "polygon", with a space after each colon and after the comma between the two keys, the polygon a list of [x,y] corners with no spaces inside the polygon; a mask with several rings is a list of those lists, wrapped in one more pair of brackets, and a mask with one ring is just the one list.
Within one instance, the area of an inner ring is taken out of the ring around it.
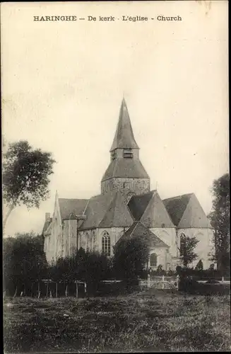
{"label": "rough grass field across the foreground", "polygon": [[207,350],[230,350],[230,296],[4,300],[5,353]]}

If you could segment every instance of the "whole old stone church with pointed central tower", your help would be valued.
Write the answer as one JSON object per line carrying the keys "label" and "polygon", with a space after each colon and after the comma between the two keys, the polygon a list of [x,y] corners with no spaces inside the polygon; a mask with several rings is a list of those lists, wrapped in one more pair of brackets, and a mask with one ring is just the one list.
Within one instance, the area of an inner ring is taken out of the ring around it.
{"label": "whole old stone church with pointed central tower", "polygon": [[121,237],[148,239],[150,268],[175,269],[180,263],[181,234],[199,240],[195,253],[206,269],[211,264],[213,229],[194,193],[162,200],[150,190],[150,178],[139,159],[139,147],[123,99],[102,176],[101,193],[90,199],[59,198],[45,215],[44,250],[48,262],[71,256],[81,247],[110,257]]}

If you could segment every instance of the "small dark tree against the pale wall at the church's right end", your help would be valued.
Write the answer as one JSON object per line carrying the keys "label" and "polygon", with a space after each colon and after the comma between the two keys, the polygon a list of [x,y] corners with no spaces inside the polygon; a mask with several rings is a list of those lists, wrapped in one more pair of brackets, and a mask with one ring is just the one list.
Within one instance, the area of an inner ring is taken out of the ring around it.
{"label": "small dark tree against the pale wall at the church's right end", "polygon": [[189,237],[185,234],[181,234],[179,253],[182,257],[182,263],[185,268],[198,257],[198,255],[194,253],[194,249],[198,243],[199,240],[197,240],[196,237]]}

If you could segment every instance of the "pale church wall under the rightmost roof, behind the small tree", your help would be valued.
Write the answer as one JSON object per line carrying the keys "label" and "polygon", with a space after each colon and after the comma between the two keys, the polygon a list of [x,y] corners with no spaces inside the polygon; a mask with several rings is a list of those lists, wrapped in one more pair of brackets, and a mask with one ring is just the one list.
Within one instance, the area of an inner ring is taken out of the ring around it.
{"label": "pale church wall under the rightmost roof, behind the small tree", "polygon": [[201,261],[203,262],[203,269],[208,269],[209,265],[213,263],[213,261],[209,261],[209,253],[213,252],[213,229],[179,229],[179,239],[182,233],[184,233],[185,236],[196,237],[196,239],[199,240],[199,243],[196,245],[195,248],[195,253],[198,254],[198,258],[196,258],[196,261],[192,263],[192,266],[195,267],[201,259]]}

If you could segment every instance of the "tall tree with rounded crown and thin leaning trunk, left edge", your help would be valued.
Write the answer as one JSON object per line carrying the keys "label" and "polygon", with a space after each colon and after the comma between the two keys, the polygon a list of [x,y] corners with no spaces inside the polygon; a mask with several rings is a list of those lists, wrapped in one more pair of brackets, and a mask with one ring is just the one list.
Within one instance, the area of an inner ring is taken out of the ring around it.
{"label": "tall tree with rounded crown and thin leaning trunk, left edge", "polygon": [[53,173],[52,154],[33,150],[27,141],[8,144],[3,154],[3,199],[8,206],[3,227],[12,210],[20,204],[39,207],[49,195],[49,176]]}

